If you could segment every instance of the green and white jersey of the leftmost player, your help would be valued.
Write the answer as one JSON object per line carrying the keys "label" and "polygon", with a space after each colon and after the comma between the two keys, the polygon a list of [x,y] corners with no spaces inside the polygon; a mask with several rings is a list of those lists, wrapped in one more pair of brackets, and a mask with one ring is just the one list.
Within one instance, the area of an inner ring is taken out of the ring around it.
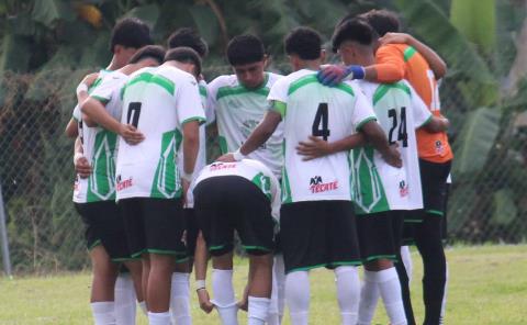
{"label": "green and white jersey of the leftmost player", "polygon": [[[121,87],[128,76],[113,71],[106,74],[90,97],[104,104],[106,111],[115,120],[121,120]],[[91,165],[89,178],[77,177],[74,188],[74,202],[89,203],[115,200],[115,157],[117,154],[117,135],[103,127],[90,127],[79,122],[79,135],[82,139],[85,157]]]}

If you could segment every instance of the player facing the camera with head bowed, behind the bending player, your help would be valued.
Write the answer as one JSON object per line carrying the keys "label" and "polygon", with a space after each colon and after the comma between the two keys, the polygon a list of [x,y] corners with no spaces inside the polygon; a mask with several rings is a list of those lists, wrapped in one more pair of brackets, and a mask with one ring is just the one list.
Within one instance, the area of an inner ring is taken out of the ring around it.
{"label": "player facing the camera with head bowed, behind the bending player", "polygon": [[[227,45],[227,60],[234,75],[220,76],[208,86],[208,110],[215,114],[222,154],[236,150],[247,139],[248,135],[264,120],[268,109],[267,96],[271,87],[281,78],[280,75],[266,71],[268,57],[262,42],[254,35],[235,36]],[[280,179],[282,168],[282,126],[272,134],[269,142],[262,144],[248,158],[258,160],[269,167]],[[279,324],[283,314],[283,260],[280,244],[277,244],[274,260],[276,289],[271,303],[269,323]],[[232,266],[221,269],[213,265],[213,291],[232,287]],[[206,292],[199,292],[205,294]],[[220,313],[229,314],[236,310],[233,305],[234,295],[225,301],[217,301]],[[245,294],[243,301],[245,300]],[[242,302],[239,305],[243,306]],[[222,307],[228,305],[229,307]]]}

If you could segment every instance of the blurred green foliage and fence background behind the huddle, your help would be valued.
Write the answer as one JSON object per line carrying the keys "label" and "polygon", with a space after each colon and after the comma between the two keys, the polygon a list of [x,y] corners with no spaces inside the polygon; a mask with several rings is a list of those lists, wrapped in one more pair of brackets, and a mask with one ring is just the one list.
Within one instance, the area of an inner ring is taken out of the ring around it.
{"label": "blurred green foliage and fence background behind the huddle", "polygon": [[[192,26],[210,45],[204,75],[229,72],[229,37],[255,33],[288,72],[282,38],[310,25],[328,41],[346,13],[396,11],[405,31],[435,48],[449,71],[444,113],[455,147],[452,240],[520,242],[527,233],[527,1],[525,0],[3,0],[0,1],[0,182],[16,271],[86,266],[71,204],[72,142],[63,130],[75,87],[111,59],[124,16],[147,22],[165,44]],[[338,58],[334,57],[333,60]]]}

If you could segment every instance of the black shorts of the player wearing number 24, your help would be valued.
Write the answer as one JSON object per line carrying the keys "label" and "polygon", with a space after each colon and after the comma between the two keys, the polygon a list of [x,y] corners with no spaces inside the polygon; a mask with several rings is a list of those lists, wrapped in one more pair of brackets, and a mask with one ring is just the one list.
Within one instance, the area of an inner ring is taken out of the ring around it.
{"label": "black shorts of the player wearing number 24", "polygon": [[360,257],[363,262],[396,260],[403,233],[402,211],[385,211],[357,216]]}

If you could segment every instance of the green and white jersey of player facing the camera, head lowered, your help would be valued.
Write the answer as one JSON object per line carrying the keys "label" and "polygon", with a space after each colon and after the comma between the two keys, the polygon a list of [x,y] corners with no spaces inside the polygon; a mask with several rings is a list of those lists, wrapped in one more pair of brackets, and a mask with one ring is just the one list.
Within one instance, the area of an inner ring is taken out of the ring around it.
{"label": "green and white jersey of player facing the camera, head lowered", "polygon": [[[235,75],[220,76],[209,83],[209,105],[214,111],[222,154],[237,150],[264,120],[269,103],[269,90],[282,76],[266,72],[266,81],[258,89],[247,89]],[[248,158],[268,166],[277,177],[282,168],[283,127],[274,131],[269,141]]]}

